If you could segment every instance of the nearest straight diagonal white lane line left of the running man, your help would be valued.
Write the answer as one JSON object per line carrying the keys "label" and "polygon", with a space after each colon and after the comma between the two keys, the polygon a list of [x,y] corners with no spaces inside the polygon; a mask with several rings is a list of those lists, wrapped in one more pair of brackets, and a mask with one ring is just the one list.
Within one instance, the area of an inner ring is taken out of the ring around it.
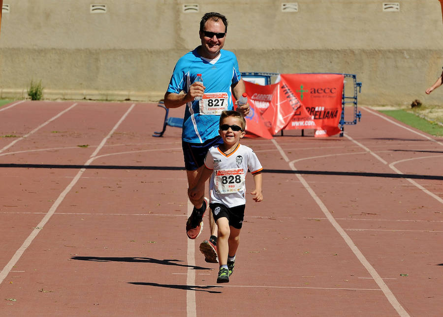
{"label": "nearest straight diagonal white lane line left of the running man", "polygon": [[[76,103],[74,104],[76,105]],[[71,108],[74,106],[72,105]],[[127,117],[129,112],[134,108],[135,103],[133,103],[127,112],[123,115],[123,117],[120,119],[120,121],[114,126],[114,128],[109,132],[109,134],[103,139],[107,140],[110,138],[111,134],[116,130],[116,128],[122,123],[122,121]],[[95,150],[95,152],[91,155],[91,158],[88,159],[88,161],[84,165],[89,165],[92,160],[94,160],[94,155],[98,153],[98,151],[103,147],[104,142],[102,141],[100,143],[100,146]],[[20,259],[20,257],[23,255],[23,253],[28,249],[28,247],[31,245],[34,238],[37,236],[37,234],[40,232],[40,229],[44,227],[44,225],[49,221],[49,219],[54,215],[57,208],[62,203],[64,197],[66,197],[67,193],[74,187],[74,185],[77,183],[77,181],[80,179],[81,175],[85,171],[85,168],[80,169],[77,172],[77,175],[72,179],[72,181],[69,183],[69,185],[63,190],[63,192],[59,195],[59,197],[56,199],[54,204],[51,206],[51,208],[48,210],[46,215],[43,217],[43,219],[37,224],[35,229],[32,230],[31,234],[28,236],[28,238],[23,242],[22,246],[15,252],[15,254],[12,256],[12,258],[9,260],[9,262],[6,264],[6,266],[3,268],[3,270],[0,272],[0,284],[3,282],[3,280],[6,278],[6,276],[9,274],[9,272],[12,270],[14,265],[17,263],[17,261]]]}

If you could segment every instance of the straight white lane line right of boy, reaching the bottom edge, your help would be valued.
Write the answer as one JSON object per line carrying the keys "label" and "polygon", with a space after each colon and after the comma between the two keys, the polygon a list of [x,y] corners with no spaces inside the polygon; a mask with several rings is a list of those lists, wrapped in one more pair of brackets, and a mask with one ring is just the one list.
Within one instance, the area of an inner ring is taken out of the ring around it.
{"label": "straight white lane line right of boy, reaching the bottom edge", "polygon": [[[286,162],[288,162],[290,168],[294,171],[297,169],[293,164],[289,162],[289,159],[285,155],[285,152],[283,149],[278,145],[277,141],[275,139],[271,140],[274,145],[277,147],[279,152],[281,153],[282,157],[285,159]],[[369,150],[369,149],[368,149]],[[338,222],[334,219],[332,214],[329,212],[329,210],[326,208],[326,206],[323,204],[321,199],[316,195],[315,191],[309,186],[308,182],[300,175],[295,174],[295,176],[300,180],[300,182],[303,184],[305,189],[310,193],[311,197],[315,200],[318,207],[320,207],[323,214],[326,216],[328,221],[332,224],[332,226],[337,230],[337,232],[342,236],[342,238],[345,240],[348,247],[351,249],[351,251],[355,254],[355,256],[358,258],[360,263],[366,268],[366,270],[369,272],[369,274],[374,278],[374,281],[379,285],[380,289],[383,291],[384,296],[386,299],[391,303],[392,307],[397,311],[397,313],[401,317],[409,317],[408,312],[403,308],[402,305],[398,302],[397,298],[394,296],[392,291],[389,289],[389,287],[383,282],[381,279],[379,273],[374,269],[374,267],[369,263],[369,261],[366,259],[366,257],[361,253],[361,251],[357,248],[357,246],[353,243],[352,239],[348,236],[348,234],[345,232],[345,230],[338,224]]]}

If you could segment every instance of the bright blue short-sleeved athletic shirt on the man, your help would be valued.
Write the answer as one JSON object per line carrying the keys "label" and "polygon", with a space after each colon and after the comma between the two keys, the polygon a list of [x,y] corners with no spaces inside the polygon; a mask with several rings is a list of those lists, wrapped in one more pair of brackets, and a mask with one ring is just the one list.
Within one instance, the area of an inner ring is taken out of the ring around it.
{"label": "bright blue short-sleeved athletic shirt on the man", "polygon": [[[206,87],[205,94],[227,93],[227,110],[232,110],[231,85],[241,79],[237,58],[234,53],[222,49],[217,58],[208,60],[198,55],[199,48],[200,46],[178,60],[167,92],[180,94],[184,91],[187,94],[197,74],[201,74]],[[198,101],[188,102],[185,108],[183,141],[203,143],[219,135],[220,115],[201,115]]]}

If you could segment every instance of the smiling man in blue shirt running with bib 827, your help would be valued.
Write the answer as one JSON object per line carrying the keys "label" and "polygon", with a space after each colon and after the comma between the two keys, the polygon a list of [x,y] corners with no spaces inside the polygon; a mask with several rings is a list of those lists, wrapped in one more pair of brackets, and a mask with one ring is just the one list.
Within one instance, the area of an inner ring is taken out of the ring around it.
{"label": "smiling man in blue shirt running with bib 827", "polygon": [[[200,21],[201,45],[179,59],[164,95],[166,108],[186,105],[182,132],[182,147],[188,176],[188,191],[198,183],[208,149],[222,144],[219,121],[223,110],[233,110],[232,95],[236,100],[245,92],[237,58],[223,50],[227,20],[220,13],[206,13]],[[203,82],[196,82],[201,74]],[[194,100],[201,97],[201,100]],[[249,105],[235,109],[244,116]],[[189,196],[189,195],[188,195]],[[194,205],[186,223],[187,235],[195,239],[203,229],[203,215],[208,202],[204,191],[189,197]],[[208,262],[217,262],[217,225],[209,215],[211,238],[203,241],[200,251]]]}

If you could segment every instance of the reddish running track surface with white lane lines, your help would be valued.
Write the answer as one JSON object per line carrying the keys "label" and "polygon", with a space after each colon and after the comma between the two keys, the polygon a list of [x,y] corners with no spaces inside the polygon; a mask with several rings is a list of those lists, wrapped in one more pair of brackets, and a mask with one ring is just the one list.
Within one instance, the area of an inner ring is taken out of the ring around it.
{"label": "reddish running track surface with white lane lines", "polygon": [[264,201],[217,285],[206,219],[185,233],[181,130],[152,137],[155,104],[74,104],[0,108],[1,316],[442,315],[442,139],[370,109],[342,138],[244,139]]}

